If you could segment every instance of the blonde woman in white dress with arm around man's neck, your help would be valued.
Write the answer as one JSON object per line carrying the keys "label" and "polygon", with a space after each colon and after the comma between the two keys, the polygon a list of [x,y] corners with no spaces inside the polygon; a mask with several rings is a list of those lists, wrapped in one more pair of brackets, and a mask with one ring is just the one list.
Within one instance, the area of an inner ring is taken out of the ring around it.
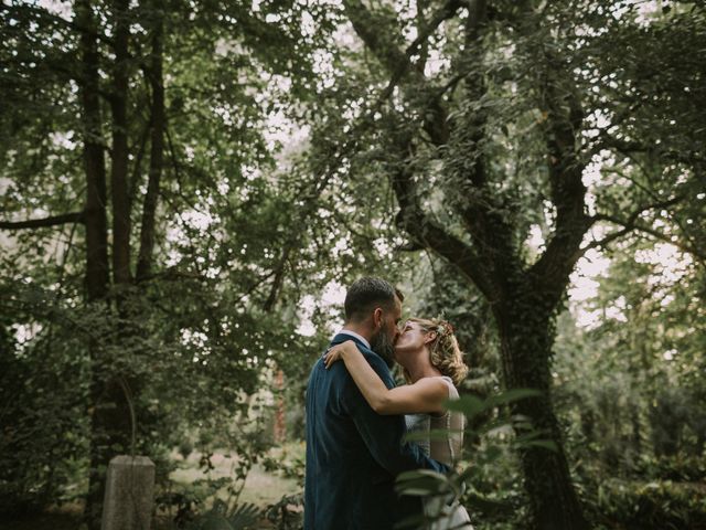
{"label": "blonde woman in white dress with arm around man's neck", "polygon": [[[339,360],[378,414],[406,414],[409,432],[450,431],[442,439],[426,438],[418,444],[431,458],[450,467],[457,464],[464,418],[461,413],[446,411],[443,403],[459,398],[456,384],[463,380],[468,367],[449,322],[421,318],[405,322],[395,343],[395,360],[403,367],[406,385],[387,389],[352,340],[333,347],[324,357],[327,368]],[[434,530],[472,528],[466,509],[458,502],[448,507],[442,499],[427,499],[425,512],[430,517],[443,513],[430,527]]]}

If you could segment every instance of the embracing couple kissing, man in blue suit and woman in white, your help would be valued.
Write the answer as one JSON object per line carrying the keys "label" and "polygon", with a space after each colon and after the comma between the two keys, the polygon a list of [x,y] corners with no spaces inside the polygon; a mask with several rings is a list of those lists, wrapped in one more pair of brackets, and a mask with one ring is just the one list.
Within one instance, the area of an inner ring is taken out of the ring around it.
{"label": "embracing couple kissing, man in blue suit and woman in white", "polygon": [[[400,473],[448,473],[457,464],[464,418],[443,403],[458,399],[468,371],[449,322],[410,318],[400,329],[403,300],[384,279],[356,280],[343,329],[311,371],[304,530],[387,530],[413,516],[425,516],[425,529],[472,529],[458,502],[394,489]],[[407,384],[395,386],[395,361]],[[408,432],[439,428],[452,433],[404,442]]]}

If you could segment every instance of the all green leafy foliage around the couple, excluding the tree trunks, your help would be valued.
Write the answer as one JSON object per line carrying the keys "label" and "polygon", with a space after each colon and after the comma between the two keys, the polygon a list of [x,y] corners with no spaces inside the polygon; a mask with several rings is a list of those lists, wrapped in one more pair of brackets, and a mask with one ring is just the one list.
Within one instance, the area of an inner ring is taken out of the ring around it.
{"label": "all green leafy foliage around the couple, excluding the tree trunks", "polygon": [[[576,484],[607,528],[703,524],[699,490],[678,484],[704,481],[706,439],[703,6],[491,3],[477,42],[466,41],[464,3],[383,99],[385,64],[395,63],[393,52],[425,30],[438,6],[372,2],[371,26],[386,53],[370,54],[353,40],[343,8],[325,2],[264,1],[257,10],[250,2],[130,4],[133,247],[150,162],[149,28],[157,20],[165,26],[167,146],[152,274],[111,286],[104,304],[87,304],[82,224],[2,232],[0,511],[85,492],[88,445],[98,434],[90,433],[90,385],[117,378],[133,382],[125,398],[137,416],[137,451],[157,460],[164,490],[175,446],[204,453],[205,469],[216,449],[239,456],[231,480],[196,484],[164,502],[203,511],[216,490],[231,488],[227,509],[216,504],[194,524],[244,523],[254,513],[238,508],[237,497],[269,447],[263,425],[271,411],[253,395],[282,370],[285,388],[272,390],[292,412],[289,433],[301,435],[297,413],[308,372],[340,321],[340,308],[322,303],[322,293],[366,273],[400,283],[415,315],[453,322],[471,367],[458,403],[471,420],[460,498],[479,529],[522,528],[527,492],[511,449],[552,446],[543,433],[523,431],[522,417],[506,415],[507,401],[527,395],[485,399],[502,379],[491,318],[498,305],[467,272],[402,252],[415,245],[399,233],[389,182],[409,169],[430,218],[464,243],[473,220],[459,212],[489,204],[511,227],[502,252],[520,268],[532,266],[557,222],[553,137],[541,108],[557,91],[560,112],[575,95],[585,113],[574,148],[578,162],[591,162],[584,183],[595,224],[584,244],[611,258],[599,295],[584,306],[596,311],[596,324],[581,329],[560,315],[553,365],[543,372],[554,383]],[[100,14],[99,140],[109,155],[114,28],[109,2],[92,4]],[[64,18],[54,8],[3,6],[2,222],[85,203],[83,32],[71,12]],[[560,67],[548,67],[548,59]],[[429,124],[439,107],[448,112],[435,130]],[[410,149],[399,152],[400,137],[414,138]],[[479,160],[481,190],[463,183]],[[630,235],[596,243],[624,226]],[[648,258],[670,245],[680,248],[676,272]],[[314,335],[301,335],[303,320]],[[534,348],[535,339],[528,332],[522,342]],[[550,349],[542,342],[535,350]],[[301,478],[296,452],[265,464]],[[271,507],[280,528],[298,524],[299,512],[288,508],[297,504],[287,498]]]}

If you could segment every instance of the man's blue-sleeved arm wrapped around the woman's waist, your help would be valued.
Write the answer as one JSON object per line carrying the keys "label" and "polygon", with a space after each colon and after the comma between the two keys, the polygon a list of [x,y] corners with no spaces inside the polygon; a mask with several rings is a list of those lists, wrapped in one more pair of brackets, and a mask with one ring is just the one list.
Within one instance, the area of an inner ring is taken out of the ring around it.
{"label": "man's blue-sleeved arm wrapped around the woman's waist", "polygon": [[[387,388],[394,386],[389,370],[384,361],[373,353],[364,352],[373,370]],[[344,367],[339,367],[344,369]],[[361,391],[346,373],[347,384],[341,389],[341,405],[349,412],[361,434],[363,442],[373,458],[392,475],[413,469],[432,469],[448,473],[449,468],[427,455],[416,444],[403,443],[406,433],[404,420],[400,416],[383,416],[367,404]]]}

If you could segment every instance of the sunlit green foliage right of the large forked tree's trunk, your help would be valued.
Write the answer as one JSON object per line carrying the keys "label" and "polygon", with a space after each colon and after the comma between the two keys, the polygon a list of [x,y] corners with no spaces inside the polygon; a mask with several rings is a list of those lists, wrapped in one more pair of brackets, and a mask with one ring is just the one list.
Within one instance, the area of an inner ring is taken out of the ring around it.
{"label": "sunlit green foliage right of the large forked tree's trunk", "polygon": [[609,255],[598,295],[581,305],[601,318],[589,329],[559,320],[557,396],[581,496],[599,528],[698,528],[703,267],[640,240]]}

